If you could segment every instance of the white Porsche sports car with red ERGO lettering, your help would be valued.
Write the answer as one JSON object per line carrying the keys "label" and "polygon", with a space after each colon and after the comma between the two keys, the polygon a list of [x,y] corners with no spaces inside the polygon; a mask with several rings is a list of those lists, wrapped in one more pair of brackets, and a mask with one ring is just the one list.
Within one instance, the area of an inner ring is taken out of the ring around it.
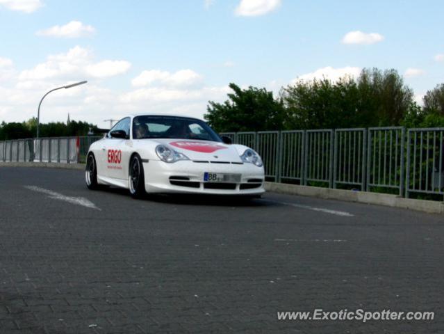
{"label": "white Porsche sports car with red ERGO lettering", "polygon": [[90,146],[85,181],[147,193],[208,193],[258,196],[263,189],[261,157],[231,145],[196,118],[139,115],[123,118]]}

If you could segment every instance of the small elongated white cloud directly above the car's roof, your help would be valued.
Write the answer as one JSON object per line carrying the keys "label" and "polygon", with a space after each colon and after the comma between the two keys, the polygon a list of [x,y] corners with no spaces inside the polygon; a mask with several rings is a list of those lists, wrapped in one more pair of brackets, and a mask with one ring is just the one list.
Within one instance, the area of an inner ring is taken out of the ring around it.
{"label": "small elongated white cloud directly above the car's roof", "polygon": [[202,81],[202,76],[193,70],[179,70],[171,73],[161,70],[145,70],[135,77],[131,84],[135,87],[160,84],[161,86],[193,86]]}

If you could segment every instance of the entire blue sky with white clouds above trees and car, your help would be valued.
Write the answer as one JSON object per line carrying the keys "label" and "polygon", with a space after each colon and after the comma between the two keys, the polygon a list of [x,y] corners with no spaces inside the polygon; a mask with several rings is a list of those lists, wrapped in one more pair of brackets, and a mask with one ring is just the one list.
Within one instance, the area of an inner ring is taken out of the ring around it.
{"label": "entire blue sky with white clouds above trees and car", "polygon": [[[444,83],[442,1],[0,0],[0,122],[202,118],[228,84],[395,68],[416,100]],[[440,33],[441,31],[441,33]]]}

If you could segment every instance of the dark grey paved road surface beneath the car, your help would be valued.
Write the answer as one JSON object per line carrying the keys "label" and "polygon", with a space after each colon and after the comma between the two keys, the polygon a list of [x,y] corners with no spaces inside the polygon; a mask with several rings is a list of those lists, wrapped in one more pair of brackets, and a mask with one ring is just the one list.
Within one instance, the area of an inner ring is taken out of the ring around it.
{"label": "dark grey paved road surface beneath the car", "polygon": [[[133,200],[0,168],[0,333],[443,333],[444,218],[266,193]],[[433,321],[278,321],[279,311]]]}

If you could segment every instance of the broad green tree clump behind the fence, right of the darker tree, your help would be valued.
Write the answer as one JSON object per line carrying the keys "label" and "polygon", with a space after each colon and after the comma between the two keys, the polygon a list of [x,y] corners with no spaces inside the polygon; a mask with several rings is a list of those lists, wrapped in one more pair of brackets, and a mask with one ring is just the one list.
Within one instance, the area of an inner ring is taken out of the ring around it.
{"label": "broad green tree clump behind the fence, right of the darker tree", "polygon": [[396,70],[365,69],[357,79],[336,83],[296,81],[283,88],[281,98],[292,129],[400,125],[415,107],[413,91]]}

